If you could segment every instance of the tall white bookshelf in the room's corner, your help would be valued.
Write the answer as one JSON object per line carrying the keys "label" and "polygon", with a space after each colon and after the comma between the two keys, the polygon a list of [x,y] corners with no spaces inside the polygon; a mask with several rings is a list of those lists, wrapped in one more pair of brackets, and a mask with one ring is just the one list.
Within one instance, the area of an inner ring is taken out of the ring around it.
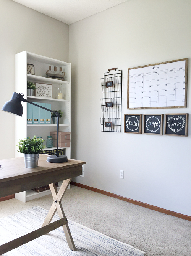
{"label": "tall white bookshelf in the room's corner", "polygon": [[[27,74],[27,63],[34,63],[35,75]],[[62,67],[62,71],[65,72],[65,81],[47,78],[46,71],[52,66],[52,71],[54,66]],[[27,81],[33,83],[47,83],[52,84],[52,98],[34,97],[27,96],[26,84]],[[64,92],[64,99],[56,99],[57,87],[62,86]],[[60,61],[57,59],[52,59],[49,57],[37,55],[35,53],[29,53],[23,51],[15,55],[15,92],[23,93],[24,97],[31,102],[40,103],[51,103],[51,109],[61,110],[63,112],[63,117],[59,119],[59,131],[70,132],[71,131],[71,64]],[[26,137],[42,136],[44,139],[44,145],[46,144],[47,136],[50,132],[57,130],[56,124],[39,124],[39,125],[27,125],[26,107],[27,104],[22,102],[23,105],[23,117],[15,116],[15,157],[21,157],[23,154],[17,151],[16,145],[20,139]],[[55,149],[49,148],[47,150]],[[64,147],[65,155],[70,158],[70,147]],[[46,149],[44,149],[46,150]],[[26,202],[34,198],[42,197],[50,193],[50,190],[45,192],[34,192],[33,190],[24,191],[17,193],[15,198],[20,201]]]}

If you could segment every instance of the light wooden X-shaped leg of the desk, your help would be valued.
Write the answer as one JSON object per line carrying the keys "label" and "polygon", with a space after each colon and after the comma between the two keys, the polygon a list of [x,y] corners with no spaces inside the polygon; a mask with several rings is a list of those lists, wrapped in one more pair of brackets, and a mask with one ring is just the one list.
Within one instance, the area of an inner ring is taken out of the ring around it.
{"label": "light wooden X-shaped leg of the desk", "polygon": [[[70,182],[71,182],[71,179],[64,180],[58,192],[57,192],[55,183],[49,184],[54,202],[49,210],[49,213],[47,214],[47,216],[45,218],[44,223],[42,224],[42,227],[48,225],[51,222],[56,211],[58,212],[58,215],[60,218],[65,217],[65,214],[64,214],[64,211],[62,208],[62,204],[61,204],[61,200],[62,200]],[[73,238],[71,236],[68,223],[66,223],[62,227],[63,227],[64,233],[65,233],[69,248],[73,251],[76,251],[76,247],[75,247]]]}

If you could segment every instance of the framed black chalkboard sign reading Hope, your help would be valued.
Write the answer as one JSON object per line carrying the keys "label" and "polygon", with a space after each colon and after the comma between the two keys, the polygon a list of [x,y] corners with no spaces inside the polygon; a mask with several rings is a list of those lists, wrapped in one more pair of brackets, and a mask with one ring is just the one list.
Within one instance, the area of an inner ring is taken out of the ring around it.
{"label": "framed black chalkboard sign reading Hope", "polygon": [[163,114],[143,114],[143,134],[162,135]]}

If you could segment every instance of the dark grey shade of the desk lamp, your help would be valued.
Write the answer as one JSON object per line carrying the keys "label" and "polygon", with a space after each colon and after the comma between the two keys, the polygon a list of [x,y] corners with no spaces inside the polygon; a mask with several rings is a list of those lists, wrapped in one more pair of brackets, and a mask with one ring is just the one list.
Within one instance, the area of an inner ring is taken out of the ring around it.
{"label": "dark grey shade of the desk lamp", "polygon": [[12,98],[10,101],[5,102],[2,107],[2,111],[15,114],[17,116],[23,115],[23,106],[21,104],[20,95],[16,92],[13,92]]}

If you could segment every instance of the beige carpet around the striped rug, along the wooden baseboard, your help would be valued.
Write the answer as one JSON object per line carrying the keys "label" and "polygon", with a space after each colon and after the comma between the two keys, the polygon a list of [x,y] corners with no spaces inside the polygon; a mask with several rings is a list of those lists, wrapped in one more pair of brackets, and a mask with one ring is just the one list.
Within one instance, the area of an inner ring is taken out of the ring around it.
{"label": "beige carpet around the striped rug, along the wooden baseboard", "polygon": [[[36,205],[49,210],[52,195],[27,203],[0,202],[0,218]],[[146,256],[191,256],[191,221],[75,186],[67,190],[62,205],[70,220],[134,246]]]}

